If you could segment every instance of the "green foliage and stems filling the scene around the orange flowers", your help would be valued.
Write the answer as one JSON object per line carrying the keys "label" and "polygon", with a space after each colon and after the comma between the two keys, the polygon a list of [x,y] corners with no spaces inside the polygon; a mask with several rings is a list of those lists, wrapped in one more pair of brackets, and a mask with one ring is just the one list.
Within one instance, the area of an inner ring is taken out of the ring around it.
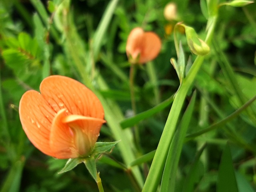
{"label": "green foliage and stems filling the scene around the orange flowers", "polygon": [[[0,0],[0,192],[96,192],[96,170],[106,192],[256,190],[256,4],[174,0],[177,20],[167,21],[168,2]],[[136,114],[126,56],[134,27],[162,41],[134,76]],[[102,102],[96,161],[65,166],[22,130],[22,94],[52,74]]]}

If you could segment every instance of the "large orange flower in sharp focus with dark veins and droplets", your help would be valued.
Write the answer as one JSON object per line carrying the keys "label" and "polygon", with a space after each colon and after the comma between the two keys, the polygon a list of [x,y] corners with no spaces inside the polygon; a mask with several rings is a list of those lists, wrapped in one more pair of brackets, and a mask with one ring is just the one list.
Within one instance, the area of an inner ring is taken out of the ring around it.
{"label": "large orange flower in sharp focus with dark veins and droplets", "polygon": [[88,156],[106,122],[100,100],[80,82],[58,75],[45,78],[40,92],[29,90],[20,99],[20,122],[29,140],[55,158]]}

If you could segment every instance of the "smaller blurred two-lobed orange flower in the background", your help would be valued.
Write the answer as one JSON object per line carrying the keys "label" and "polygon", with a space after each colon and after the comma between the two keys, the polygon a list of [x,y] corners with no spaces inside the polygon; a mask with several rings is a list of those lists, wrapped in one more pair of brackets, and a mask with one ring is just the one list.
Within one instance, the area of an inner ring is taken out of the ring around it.
{"label": "smaller blurred two-lobed orange flower in the background", "polygon": [[132,64],[143,64],[158,56],[161,40],[154,32],[144,32],[142,28],[134,28],[127,40],[126,54]]}

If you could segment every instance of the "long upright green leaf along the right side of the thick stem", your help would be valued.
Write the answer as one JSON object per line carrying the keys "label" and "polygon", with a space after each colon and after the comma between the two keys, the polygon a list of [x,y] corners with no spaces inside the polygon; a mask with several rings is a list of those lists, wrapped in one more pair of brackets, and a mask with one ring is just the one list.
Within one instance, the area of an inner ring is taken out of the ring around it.
{"label": "long upright green leaf along the right side of the thick stem", "polygon": [[180,160],[180,154],[188,130],[188,126],[193,114],[194,105],[196,101],[196,92],[193,93],[193,96],[190,100],[188,108],[186,109],[180,127],[176,131],[174,138],[172,139],[168,156],[166,159],[166,164],[164,166],[164,172],[162,175],[162,182],[160,192],[174,192],[175,191],[175,182],[176,182],[176,172],[178,169],[178,162]]}

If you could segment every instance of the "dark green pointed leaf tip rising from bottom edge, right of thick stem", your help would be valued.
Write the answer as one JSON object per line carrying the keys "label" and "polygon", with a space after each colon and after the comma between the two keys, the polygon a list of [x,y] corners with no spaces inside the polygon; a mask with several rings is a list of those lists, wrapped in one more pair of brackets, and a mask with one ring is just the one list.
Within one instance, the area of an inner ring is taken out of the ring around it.
{"label": "dark green pointed leaf tip rising from bottom edge, right of thick stem", "polygon": [[222,153],[218,171],[217,192],[238,192],[236,176],[234,172],[230,147],[226,147]]}

